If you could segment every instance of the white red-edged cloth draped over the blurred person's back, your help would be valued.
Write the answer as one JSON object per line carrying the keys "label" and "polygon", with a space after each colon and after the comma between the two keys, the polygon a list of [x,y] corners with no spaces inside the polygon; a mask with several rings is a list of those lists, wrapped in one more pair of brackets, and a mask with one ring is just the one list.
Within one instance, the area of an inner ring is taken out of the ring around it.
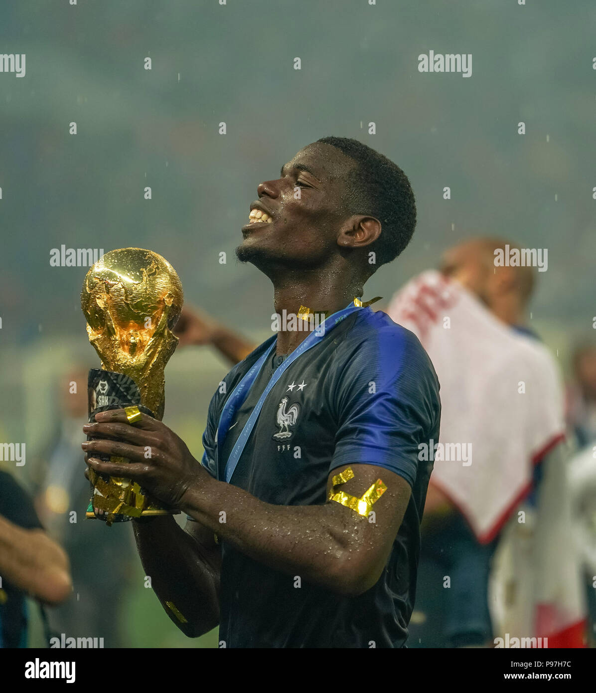
{"label": "white red-edged cloth draped over the blurred person's back", "polygon": [[529,491],[534,462],[563,439],[554,360],[439,272],[412,279],[387,313],[419,337],[435,366],[443,451],[461,444],[470,453],[467,461],[436,459],[431,482],[487,543]]}

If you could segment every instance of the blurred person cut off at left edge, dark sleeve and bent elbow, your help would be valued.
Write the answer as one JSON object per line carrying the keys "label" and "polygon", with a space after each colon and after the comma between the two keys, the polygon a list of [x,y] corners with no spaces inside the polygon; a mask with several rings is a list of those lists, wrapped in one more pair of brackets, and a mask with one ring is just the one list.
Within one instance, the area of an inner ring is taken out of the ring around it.
{"label": "blurred person cut off at left edge, dark sleeve and bent elbow", "polygon": [[72,592],[69,560],[42,527],[24,489],[0,471],[0,647],[27,647],[26,597],[60,604]]}

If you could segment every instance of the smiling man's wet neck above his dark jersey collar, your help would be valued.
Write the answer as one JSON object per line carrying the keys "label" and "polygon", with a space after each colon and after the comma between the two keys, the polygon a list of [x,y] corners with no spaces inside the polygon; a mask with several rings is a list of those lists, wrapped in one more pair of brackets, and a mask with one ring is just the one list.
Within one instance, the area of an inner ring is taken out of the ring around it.
{"label": "smiling man's wet neck above his dark jersey collar", "polygon": [[[355,296],[362,295],[362,281],[346,281],[333,272],[326,273],[321,280],[318,277],[306,277],[274,283],[275,312],[280,316],[277,332],[277,354],[294,351],[316,327],[324,315],[331,315],[345,308]],[[314,313],[310,323],[300,324],[302,316]],[[285,311],[285,313],[284,313]],[[286,315],[286,320],[283,316]],[[288,317],[295,315],[295,319]],[[297,327],[299,325],[299,327]],[[304,329],[306,327],[306,329]]]}

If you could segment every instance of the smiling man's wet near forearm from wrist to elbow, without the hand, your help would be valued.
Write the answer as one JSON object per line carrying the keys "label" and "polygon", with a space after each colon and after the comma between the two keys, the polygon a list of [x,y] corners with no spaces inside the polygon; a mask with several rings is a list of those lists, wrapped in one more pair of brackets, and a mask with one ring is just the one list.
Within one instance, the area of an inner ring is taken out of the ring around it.
{"label": "smiling man's wet near forearm from wrist to elbow, without the hand", "polygon": [[338,504],[270,505],[216,480],[192,486],[182,502],[222,541],[265,565],[342,594],[372,586],[362,587],[358,572],[366,520]]}

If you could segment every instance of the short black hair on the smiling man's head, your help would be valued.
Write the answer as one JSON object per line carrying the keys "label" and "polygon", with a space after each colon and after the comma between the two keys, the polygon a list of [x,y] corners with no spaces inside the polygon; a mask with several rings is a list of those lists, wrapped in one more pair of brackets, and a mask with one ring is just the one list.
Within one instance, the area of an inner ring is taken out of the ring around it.
{"label": "short black hair on the smiling man's head", "polygon": [[348,137],[317,140],[339,149],[356,166],[347,177],[347,212],[369,214],[381,223],[379,238],[369,246],[380,267],[394,260],[410,243],[416,226],[414,193],[403,170],[369,146]]}

